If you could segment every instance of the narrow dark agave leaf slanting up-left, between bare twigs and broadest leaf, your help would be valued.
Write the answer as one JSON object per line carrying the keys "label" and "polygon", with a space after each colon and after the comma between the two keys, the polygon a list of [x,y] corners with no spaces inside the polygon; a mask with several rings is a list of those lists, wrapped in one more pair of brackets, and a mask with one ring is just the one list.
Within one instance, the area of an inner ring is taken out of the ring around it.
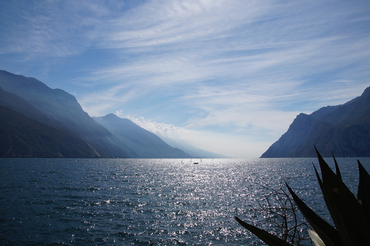
{"label": "narrow dark agave leaf slanting up-left, between bare twigs and broadest leaf", "polygon": [[326,246],[343,246],[343,243],[340,240],[338,231],[326,222],[323,218],[317,215],[315,212],[310,209],[305,202],[303,202],[295,192],[289,187],[285,182],[286,187],[288,188],[290,195],[292,195],[294,202],[296,203],[299,211],[305,216],[308,223],[312,226],[313,230],[321,238]]}

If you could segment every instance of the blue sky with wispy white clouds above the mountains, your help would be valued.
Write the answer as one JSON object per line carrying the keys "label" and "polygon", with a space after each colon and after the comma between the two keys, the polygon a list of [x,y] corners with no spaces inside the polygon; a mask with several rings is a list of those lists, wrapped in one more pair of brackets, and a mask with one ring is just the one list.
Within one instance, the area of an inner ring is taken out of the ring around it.
{"label": "blue sky with wispy white clouds above the mountains", "polygon": [[370,86],[370,1],[0,0],[0,69],[90,116],[254,158]]}

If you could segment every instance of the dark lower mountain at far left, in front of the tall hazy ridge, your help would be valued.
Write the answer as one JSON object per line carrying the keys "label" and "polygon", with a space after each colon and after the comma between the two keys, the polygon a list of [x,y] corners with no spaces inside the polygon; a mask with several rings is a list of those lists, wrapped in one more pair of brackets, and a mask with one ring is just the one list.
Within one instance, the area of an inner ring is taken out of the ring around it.
{"label": "dark lower mountain at far left, in front of the tall hazy ridge", "polygon": [[56,128],[63,129],[63,126],[23,98],[0,88],[1,157],[100,156],[68,129]]}

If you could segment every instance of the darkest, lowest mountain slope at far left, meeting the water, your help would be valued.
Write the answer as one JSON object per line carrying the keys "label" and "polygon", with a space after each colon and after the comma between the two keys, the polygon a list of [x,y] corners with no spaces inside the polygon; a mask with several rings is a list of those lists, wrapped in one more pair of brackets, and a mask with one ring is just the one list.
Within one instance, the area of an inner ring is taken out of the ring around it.
{"label": "darkest, lowest mountain slope at far left, meeting the water", "polygon": [[0,157],[99,157],[85,141],[0,105]]}

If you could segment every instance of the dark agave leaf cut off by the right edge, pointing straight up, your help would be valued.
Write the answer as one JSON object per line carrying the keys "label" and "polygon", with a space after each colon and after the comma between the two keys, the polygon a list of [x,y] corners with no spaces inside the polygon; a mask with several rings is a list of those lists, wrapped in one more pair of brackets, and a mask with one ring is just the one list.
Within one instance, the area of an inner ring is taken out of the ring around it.
{"label": "dark agave leaf cut off by the right edge, pointing straight up", "polygon": [[[357,160],[359,164],[359,189],[357,190],[357,200],[360,202],[362,208],[367,215],[367,221],[370,220],[370,175],[365,170],[363,165]],[[370,223],[370,222],[369,222]]]}

